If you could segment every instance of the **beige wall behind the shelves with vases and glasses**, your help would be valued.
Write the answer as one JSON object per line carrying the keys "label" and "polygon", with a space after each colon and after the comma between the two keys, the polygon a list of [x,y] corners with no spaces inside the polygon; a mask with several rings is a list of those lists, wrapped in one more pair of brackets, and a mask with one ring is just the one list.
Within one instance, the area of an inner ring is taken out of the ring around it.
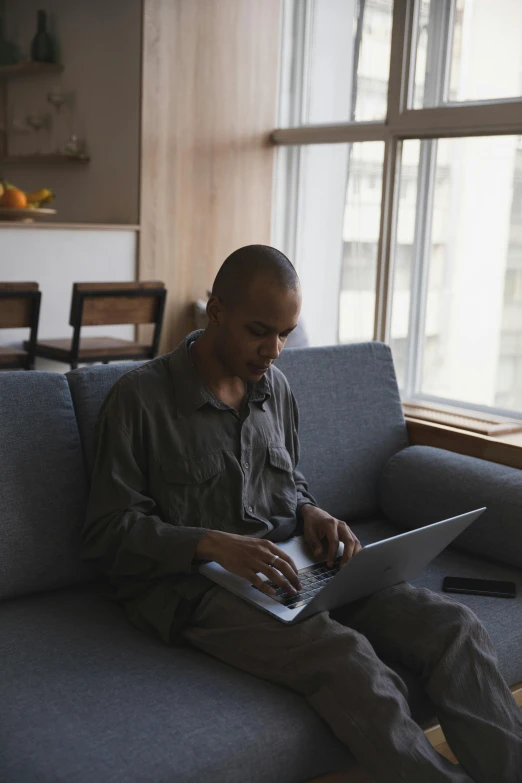
{"label": "beige wall behind the shelves with vases and glasses", "polygon": [[[25,58],[41,7],[49,13],[64,71],[10,82],[9,116],[22,127],[36,109],[55,117],[47,103],[49,90],[73,91],[75,132],[86,138],[91,162],[6,165],[4,175],[24,190],[53,188],[60,222],[138,223],[141,2],[6,0],[7,37],[14,38]],[[51,151],[52,137],[45,130],[39,135],[42,151]],[[10,147],[13,154],[35,152],[35,133],[11,133]]]}

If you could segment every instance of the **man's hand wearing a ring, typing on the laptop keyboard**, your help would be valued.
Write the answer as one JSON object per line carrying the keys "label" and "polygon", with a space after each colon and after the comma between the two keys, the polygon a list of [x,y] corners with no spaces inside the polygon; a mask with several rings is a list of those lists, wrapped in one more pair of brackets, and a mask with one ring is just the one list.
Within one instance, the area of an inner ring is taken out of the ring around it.
{"label": "man's hand wearing a ring, typing on the laptop keyboard", "polygon": [[[278,559],[271,566],[276,555]],[[243,576],[262,593],[268,595],[273,595],[275,590],[261,579],[259,573],[267,576],[271,582],[275,582],[291,595],[295,595],[296,588],[301,589],[297,568],[292,558],[265,538],[251,538],[221,530],[209,530],[198,542],[196,557],[215,560],[227,571]]]}

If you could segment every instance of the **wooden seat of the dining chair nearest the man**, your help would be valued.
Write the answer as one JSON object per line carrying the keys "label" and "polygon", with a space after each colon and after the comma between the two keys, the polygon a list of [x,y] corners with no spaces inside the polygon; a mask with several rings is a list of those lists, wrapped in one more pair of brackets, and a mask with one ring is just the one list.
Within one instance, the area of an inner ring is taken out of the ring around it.
{"label": "wooden seat of the dining chair nearest the man", "polygon": [[[28,343],[24,343],[27,348]],[[72,338],[60,340],[39,340],[36,344],[36,356],[69,362],[71,358]],[[78,361],[100,361],[101,359],[147,359],[151,355],[151,346],[132,340],[120,340],[116,337],[82,337]]]}

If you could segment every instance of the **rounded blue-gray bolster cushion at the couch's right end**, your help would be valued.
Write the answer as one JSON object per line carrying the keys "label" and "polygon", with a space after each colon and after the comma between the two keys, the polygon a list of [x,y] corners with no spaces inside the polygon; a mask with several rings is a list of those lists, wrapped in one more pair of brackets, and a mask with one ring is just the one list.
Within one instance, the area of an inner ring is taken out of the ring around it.
{"label": "rounded blue-gray bolster cushion at the couch's right end", "polygon": [[386,464],[383,513],[415,528],[487,506],[453,546],[522,567],[522,471],[445,449],[411,446]]}

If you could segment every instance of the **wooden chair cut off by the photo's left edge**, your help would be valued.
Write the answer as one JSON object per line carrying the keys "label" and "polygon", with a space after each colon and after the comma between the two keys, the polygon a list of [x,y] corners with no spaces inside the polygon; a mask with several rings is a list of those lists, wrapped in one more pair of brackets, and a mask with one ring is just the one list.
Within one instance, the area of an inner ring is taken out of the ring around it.
{"label": "wooden chair cut off by the photo's left edge", "polygon": [[34,370],[41,296],[38,283],[0,283],[0,329],[31,330],[23,350],[0,345],[0,370]]}

